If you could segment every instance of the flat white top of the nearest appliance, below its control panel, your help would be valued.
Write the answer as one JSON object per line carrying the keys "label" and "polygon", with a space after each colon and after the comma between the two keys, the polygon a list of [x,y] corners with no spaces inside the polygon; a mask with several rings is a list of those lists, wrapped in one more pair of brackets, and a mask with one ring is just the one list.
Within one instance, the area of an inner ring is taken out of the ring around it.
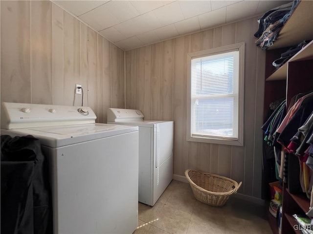
{"label": "flat white top of the nearest appliance, below its control panel", "polygon": [[32,135],[42,145],[58,148],[100,138],[138,131],[138,127],[109,124],[86,124],[43,128],[1,129],[1,134],[11,136]]}

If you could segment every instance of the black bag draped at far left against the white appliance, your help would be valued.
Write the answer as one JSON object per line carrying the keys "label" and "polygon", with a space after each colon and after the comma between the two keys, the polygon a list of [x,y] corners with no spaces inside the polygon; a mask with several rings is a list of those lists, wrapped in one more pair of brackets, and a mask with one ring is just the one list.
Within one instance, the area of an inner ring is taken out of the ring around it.
{"label": "black bag draped at far left against the white appliance", "polygon": [[1,136],[1,234],[51,234],[47,159],[33,136]]}

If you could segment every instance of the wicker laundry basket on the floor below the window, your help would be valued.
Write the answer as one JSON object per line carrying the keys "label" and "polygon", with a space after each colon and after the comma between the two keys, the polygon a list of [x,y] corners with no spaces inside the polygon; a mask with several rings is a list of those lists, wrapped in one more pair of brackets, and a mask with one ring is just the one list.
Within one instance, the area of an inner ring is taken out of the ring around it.
{"label": "wicker laundry basket on the floor below the window", "polygon": [[224,176],[199,170],[187,169],[185,176],[195,197],[211,206],[224,206],[229,196],[236,193],[242,184]]}

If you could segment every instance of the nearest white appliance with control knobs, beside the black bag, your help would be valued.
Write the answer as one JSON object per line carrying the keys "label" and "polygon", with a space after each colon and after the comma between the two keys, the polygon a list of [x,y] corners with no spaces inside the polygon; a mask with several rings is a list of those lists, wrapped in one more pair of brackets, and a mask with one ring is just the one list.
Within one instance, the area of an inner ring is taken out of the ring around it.
{"label": "nearest white appliance with control knobs, beside the black bag", "polygon": [[131,234],[138,127],[95,124],[89,107],[3,103],[1,134],[33,135],[50,159],[54,234]]}

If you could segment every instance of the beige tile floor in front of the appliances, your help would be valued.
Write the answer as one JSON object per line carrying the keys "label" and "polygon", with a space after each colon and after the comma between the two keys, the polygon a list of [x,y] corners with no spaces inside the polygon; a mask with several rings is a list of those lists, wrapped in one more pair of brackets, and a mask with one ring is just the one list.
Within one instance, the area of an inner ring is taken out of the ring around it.
{"label": "beige tile floor in front of the appliances", "polygon": [[173,180],[156,204],[139,203],[134,234],[271,234],[266,209],[230,197],[224,207],[199,202],[189,184]]}

